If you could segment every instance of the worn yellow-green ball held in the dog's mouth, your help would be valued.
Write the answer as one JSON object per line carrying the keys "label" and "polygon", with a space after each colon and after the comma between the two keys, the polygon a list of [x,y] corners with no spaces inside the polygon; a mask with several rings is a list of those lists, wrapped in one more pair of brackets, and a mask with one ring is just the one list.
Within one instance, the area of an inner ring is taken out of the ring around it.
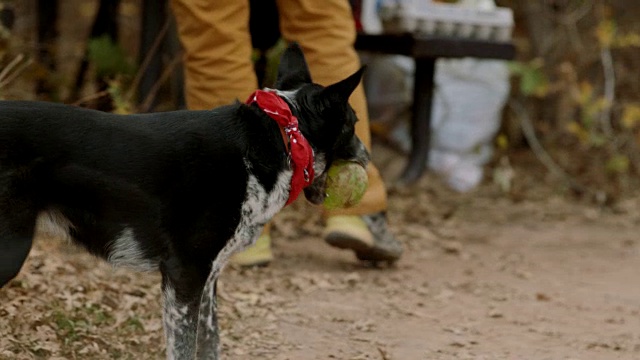
{"label": "worn yellow-green ball held in the dog's mouth", "polygon": [[324,207],[333,210],[348,208],[362,200],[369,185],[367,170],[352,161],[336,161],[327,171]]}

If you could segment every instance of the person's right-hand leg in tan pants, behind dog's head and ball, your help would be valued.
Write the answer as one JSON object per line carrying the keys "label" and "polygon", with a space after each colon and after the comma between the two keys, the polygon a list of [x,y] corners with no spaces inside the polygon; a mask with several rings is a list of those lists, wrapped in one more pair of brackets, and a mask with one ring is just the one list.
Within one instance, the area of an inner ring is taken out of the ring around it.
{"label": "person's right-hand leg in tan pants, behind dog's head and ball", "polygon": [[[329,85],[354,73],[360,59],[353,46],[356,32],[347,0],[277,0],[283,37],[302,47],[314,82]],[[358,116],[356,134],[371,150],[369,115],[362,84],[350,98]],[[402,248],[388,232],[384,212],[387,192],[373,164],[369,187],[355,207],[327,213],[326,240],[355,250],[363,260],[397,260]]]}

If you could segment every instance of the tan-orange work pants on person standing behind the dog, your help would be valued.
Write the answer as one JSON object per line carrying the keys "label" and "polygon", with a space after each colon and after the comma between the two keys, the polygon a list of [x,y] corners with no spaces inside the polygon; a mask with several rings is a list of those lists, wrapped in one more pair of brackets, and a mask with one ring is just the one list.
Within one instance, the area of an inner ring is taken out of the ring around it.
{"label": "tan-orange work pants on person standing behind the dog", "polygon": [[[251,61],[248,0],[172,0],[185,49],[187,106],[210,109],[244,101],[256,88]],[[353,48],[355,25],[347,0],[277,0],[284,39],[300,44],[314,82],[329,85],[353,74],[360,60]],[[362,84],[350,98],[358,116],[356,134],[371,149],[369,115]],[[367,168],[369,188],[361,203],[335,214],[386,210],[387,193],[378,170]]]}

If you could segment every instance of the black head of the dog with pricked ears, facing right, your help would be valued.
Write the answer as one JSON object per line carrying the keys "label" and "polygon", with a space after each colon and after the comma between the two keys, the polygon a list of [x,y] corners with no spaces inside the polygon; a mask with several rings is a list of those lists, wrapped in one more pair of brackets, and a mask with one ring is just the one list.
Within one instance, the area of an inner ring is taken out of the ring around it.
{"label": "black head of the dog with pricked ears, facing right", "polygon": [[353,161],[364,167],[369,163],[369,153],[355,135],[358,119],[348,102],[363,72],[360,68],[346,79],[323,87],[311,81],[297,44],[290,45],[280,60],[276,90],[298,118],[300,131],[315,153],[316,177],[304,190],[311,203],[324,201],[327,170],[334,161]]}

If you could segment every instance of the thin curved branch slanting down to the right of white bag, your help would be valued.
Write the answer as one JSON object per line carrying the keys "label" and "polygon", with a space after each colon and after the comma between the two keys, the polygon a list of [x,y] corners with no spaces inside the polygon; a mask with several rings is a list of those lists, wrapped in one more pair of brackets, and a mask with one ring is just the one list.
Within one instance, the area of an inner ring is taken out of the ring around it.
{"label": "thin curved branch slanting down to the right of white bag", "polygon": [[549,170],[552,174],[559,177],[569,184],[569,186],[578,192],[584,192],[585,188],[581,184],[579,184],[575,179],[571,177],[571,175],[567,174],[564,169],[562,169],[556,162],[553,160],[551,155],[544,149],[540,141],[536,136],[535,129],[533,128],[533,124],[531,123],[531,119],[529,118],[529,114],[524,109],[522,104],[517,102],[516,100],[509,101],[509,107],[513,109],[516,115],[520,118],[522,124],[522,133],[524,137],[527,139],[529,146],[531,146],[531,150],[536,155],[538,160]]}

